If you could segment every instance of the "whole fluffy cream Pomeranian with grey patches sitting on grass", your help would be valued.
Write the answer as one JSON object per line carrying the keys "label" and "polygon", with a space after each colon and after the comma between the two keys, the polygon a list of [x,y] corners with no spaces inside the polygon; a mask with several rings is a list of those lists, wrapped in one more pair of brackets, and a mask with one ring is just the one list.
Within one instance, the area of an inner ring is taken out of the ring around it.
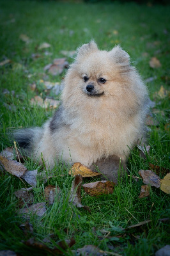
{"label": "whole fluffy cream Pomeranian with grey patches sitting on grass", "polygon": [[20,147],[47,166],[66,163],[98,166],[107,179],[118,179],[129,148],[144,138],[148,92],[120,46],[100,51],[95,42],[77,49],[63,82],[61,106],[42,128],[15,134]]}

